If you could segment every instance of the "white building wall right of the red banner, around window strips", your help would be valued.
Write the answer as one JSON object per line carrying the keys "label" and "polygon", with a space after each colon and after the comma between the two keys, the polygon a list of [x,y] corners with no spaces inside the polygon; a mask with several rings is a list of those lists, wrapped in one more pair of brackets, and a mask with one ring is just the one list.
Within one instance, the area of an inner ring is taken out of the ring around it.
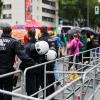
{"label": "white building wall right of the red banner, around window strips", "polygon": [[48,9],[55,9],[55,7],[52,7],[50,5],[47,4],[43,4],[42,0],[33,0],[34,2],[32,3],[32,16],[33,18],[38,21],[39,23],[41,23],[41,25],[45,25],[48,27],[55,27],[56,25],[56,20],[54,23],[52,22],[47,22],[47,21],[42,21],[42,16],[46,16],[46,17],[52,17],[52,18],[56,18],[56,15],[52,15],[49,13],[43,13],[42,12],[42,7],[44,8],[48,8]]}

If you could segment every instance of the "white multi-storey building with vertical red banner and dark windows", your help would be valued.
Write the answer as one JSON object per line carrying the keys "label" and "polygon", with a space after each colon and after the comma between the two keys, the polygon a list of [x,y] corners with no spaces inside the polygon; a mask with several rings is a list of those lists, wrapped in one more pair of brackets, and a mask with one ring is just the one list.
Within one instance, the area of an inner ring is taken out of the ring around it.
{"label": "white multi-storey building with vertical red banner and dark windows", "polygon": [[35,19],[41,25],[55,27],[58,23],[57,0],[2,0],[0,22],[24,25]]}

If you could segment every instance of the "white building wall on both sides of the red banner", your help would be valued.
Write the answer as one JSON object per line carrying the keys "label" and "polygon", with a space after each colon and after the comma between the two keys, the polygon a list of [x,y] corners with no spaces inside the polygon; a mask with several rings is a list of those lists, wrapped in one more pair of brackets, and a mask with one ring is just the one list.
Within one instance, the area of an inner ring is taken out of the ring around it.
{"label": "white building wall on both sides of the red banner", "polygon": [[[19,25],[25,24],[25,0],[2,0],[4,4],[12,4],[11,10],[4,10],[3,14],[12,14],[12,19],[0,19],[0,22],[8,22],[11,25],[16,25],[16,21]],[[54,7],[43,4],[42,0],[32,0],[32,17],[39,22],[42,25],[46,26],[52,26],[54,27],[56,25],[56,15],[43,13],[42,7],[48,8],[48,9],[55,9]],[[55,22],[46,22],[42,21],[42,16],[46,17],[52,17],[55,18]]]}

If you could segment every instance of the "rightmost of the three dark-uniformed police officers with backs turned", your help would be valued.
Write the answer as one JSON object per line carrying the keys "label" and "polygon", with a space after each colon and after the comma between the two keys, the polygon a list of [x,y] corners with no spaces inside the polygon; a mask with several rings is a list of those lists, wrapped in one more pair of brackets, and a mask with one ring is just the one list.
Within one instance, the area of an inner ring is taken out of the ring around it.
{"label": "rightmost of the three dark-uniformed police officers with backs turned", "polygon": [[[46,41],[46,42],[48,42],[48,44],[49,44],[49,47],[50,48],[53,48],[53,49],[55,49],[56,48],[56,41],[55,41],[55,39],[53,39],[51,36],[49,36],[49,34],[48,34],[48,32],[47,32],[47,27],[46,26],[42,26],[41,28],[40,28],[40,31],[41,31],[41,37],[39,38],[39,40],[44,40],[44,41]],[[45,58],[45,57],[44,57]],[[42,63],[43,62],[47,62],[47,60],[46,59],[42,59]],[[47,64],[47,67],[46,67],[46,69],[47,69],[47,71],[53,71],[53,69],[54,69],[54,63],[49,63],[49,64]],[[41,85],[42,85],[42,87],[44,87],[43,85],[44,85],[44,76],[43,76],[43,72],[44,72],[44,70],[42,70],[41,71]],[[55,81],[55,77],[54,77],[54,74],[47,74],[46,75],[46,85],[48,86],[48,85],[50,85],[50,84],[52,84],[54,81]],[[46,90],[46,96],[49,96],[50,94],[52,94],[53,92],[54,92],[55,90],[54,90],[54,86],[51,86],[51,87],[49,87],[47,90]],[[52,99],[53,100],[53,99]]]}

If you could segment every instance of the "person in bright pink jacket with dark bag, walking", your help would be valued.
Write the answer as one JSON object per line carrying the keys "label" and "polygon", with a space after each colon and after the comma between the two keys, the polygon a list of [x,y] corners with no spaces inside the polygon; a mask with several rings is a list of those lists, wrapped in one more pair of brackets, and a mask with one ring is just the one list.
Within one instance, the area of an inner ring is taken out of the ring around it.
{"label": "person in bright pink jacket with dark bag, walking", "polygon": [[[75,33],[74,38],[72,40],[69,40],[69,42],[67,44],[67,49],[68,49],[69,55],[73,55],[69,59],[70,62],[73,62],[74,56],[76,56],[75,62],[77,63],[79,61],[79,51],[80,51],[80,48],[82,48],[82,47],[83,47],[83,43],[80,41],[78,33]],[[72,64],[69,64],[69,69],[71,66],[72,66]]]}

